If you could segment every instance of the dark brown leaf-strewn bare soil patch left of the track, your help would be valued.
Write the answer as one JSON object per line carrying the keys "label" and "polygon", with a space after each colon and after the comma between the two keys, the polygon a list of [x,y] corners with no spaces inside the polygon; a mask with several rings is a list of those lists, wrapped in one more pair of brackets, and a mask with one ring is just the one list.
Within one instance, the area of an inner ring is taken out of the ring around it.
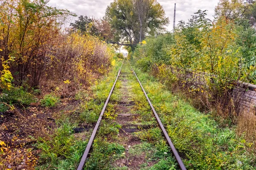
{"label": "dark brown leaf-strewn bare soil patch left of the track", "polygon": [[[69,115],[76,119],[79,115],[79,101],[73,98],[61,99],[61,102],[52,108],[42,107],[40,103],[32,103],[28,107],[15,106],[14,111],[4,113],[0,124],[0,140],[9,146],[25,144],[31,146],[35,138],[44,137],[55,128],[55,119]],[[15,138],[14,141],[13,138]]]}

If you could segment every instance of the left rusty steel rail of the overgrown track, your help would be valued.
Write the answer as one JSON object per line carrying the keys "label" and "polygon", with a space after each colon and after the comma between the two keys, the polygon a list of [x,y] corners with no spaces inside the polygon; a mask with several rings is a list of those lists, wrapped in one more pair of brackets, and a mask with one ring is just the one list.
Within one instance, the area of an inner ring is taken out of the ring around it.
{"label": "left rusty steel rail of the overgrown track", "polygon": [[[123,60],[122,65],[123,65],[124,61],[125,61],[125,59]],[[122,69],[122,65],[121,65],[120,69],[118,69],[118,74],[117,74],[117,77],[116,77],[116,81],[117,81],[117,79],[118,79],[118,77],[119,77],[119,75],[120,75],[120,72],[121,72],[121,69]],[[108,101],[109,101],[109,99],[110,99],[110,97],[111,97],[111,94],[112,94],[112,92],[113,92],[113,89],[114,89],[114,87],[115,87],[115,85],[116,85],[116,81],[114,82],[114,84],[113,84],[113,86],[112,86],[112,89],[111,89],[111,91],[109,92],[108,98],[107,98],[107,100],[106,100],[106,102],[105,102],[105,105],[104,105],[104,107],[103,107],[103,109],[102,109],[102,112],[101,112],[100,115],[99,115],[99,119],[98,119],[98,121],[97,121],[97,123],[96,123],[96,125],[95,125],[95,127],[94,127],[94,129],[93,129],[93,133],[92,133],[92,135],[91,135],[91,137],[90,137],[90,140],[89,140],[89,142],[88,142],[88,144],[87,144],[87,146],[86,146],[86,148],[85,148],[84,154],[83,154],[83,156],[82,156],[82,158],[81,158],[81,161],[80,161],[80,163],[79,163],[79,166],[77,167],[77,170],[82,170],[83,167],[84,167],[84,163],[85,163],[86,158],[87,158],[87,156],[88,156],[88,154],[89,154],[89,152],[90,152],[90,148],[91,148],[91,146],[92,146],[92,144],[93,144],[93,140],[94,140],[95,135],[96,135],[96,132],[97,132],[97,130],[98,130],[98,128],[99,128],[100,121],[102,120],[102,116],[103,116],[103,114],[104,114],[104,112],[105,112],[105,109],[106,109],[106,107],[107,107],[107,105],[108,105]]]}

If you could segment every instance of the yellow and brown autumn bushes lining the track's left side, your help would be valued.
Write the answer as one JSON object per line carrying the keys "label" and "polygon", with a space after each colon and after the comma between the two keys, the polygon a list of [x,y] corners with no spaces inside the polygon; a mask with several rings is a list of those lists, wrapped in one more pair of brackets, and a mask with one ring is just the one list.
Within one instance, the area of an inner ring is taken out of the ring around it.
{"label": "yellow and brown autumn bushes lining the track's left side", "polygon": [[[47,6],[47,3],[48,0],[1,1],[2,64],[10,63],[9,56],[15,58],[8,70],[17,85],[26,82],[39,86],[52,79],[68,79],[74,88],[80,84],[88,86],[96,74],[104,73],[110,65],[112,49],[101,38],[92,36],[99,33],[95,33],[96,26],[87,17],[79,17],[72,24],[87,33],[64,34],[61,26],[75,14]],[[87,23],[86,30],[80,28],[84,23]],[[3,72],[1,74],[3,78]],[[5,71],[4,75],[8,77],[2,83],[12,79],[9,72]]]}

